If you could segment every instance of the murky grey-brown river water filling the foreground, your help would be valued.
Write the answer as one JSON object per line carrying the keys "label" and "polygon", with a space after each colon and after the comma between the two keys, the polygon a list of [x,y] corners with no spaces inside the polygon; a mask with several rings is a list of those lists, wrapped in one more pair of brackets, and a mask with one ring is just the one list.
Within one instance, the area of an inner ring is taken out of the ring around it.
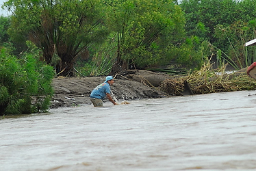
{"label": "murky grey-brown river water filling the foreground", "polygon": [[5,118],[0,170],[256,170],[255,93],[82,105]]}

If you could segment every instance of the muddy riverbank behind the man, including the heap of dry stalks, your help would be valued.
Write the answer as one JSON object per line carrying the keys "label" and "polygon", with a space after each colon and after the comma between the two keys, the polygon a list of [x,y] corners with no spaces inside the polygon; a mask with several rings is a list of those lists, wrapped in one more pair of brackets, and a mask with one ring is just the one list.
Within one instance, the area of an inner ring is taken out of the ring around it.
{"label": "muddy riverbank behind the man, including the heap of dry stalks", "polygon": [[[115,76],[112,92],[118,101],[122,102],[188,94],[255,90],[256,88],[255,80],[246,75],[246,68],[221,75],[216,73],[210,77],[208,69],[209,67],[205,66],[201,70],[183,77],[149,70],[127,70],[124,75]],[[50,108],[91,104],[90,92],[103,81],[105,81],[105,77],[58,77],[53,79],[55,94]]]}

